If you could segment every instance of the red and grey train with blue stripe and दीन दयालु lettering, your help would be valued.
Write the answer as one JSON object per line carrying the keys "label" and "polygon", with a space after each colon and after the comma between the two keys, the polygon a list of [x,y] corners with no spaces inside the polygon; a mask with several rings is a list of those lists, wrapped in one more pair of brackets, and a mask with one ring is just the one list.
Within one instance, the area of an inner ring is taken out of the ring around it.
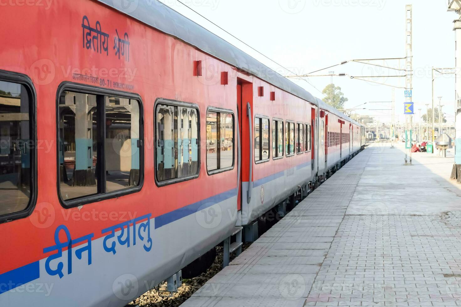
{"label": "red and grey train with blue stripe and \u0926\u0940\u0928 \u0926\u092f\u093e\u0932\u0941 lettering", "polygon": [[2,7],[0,306],[174,290],[361,149],[359,124],[246,53],[122,2]]}

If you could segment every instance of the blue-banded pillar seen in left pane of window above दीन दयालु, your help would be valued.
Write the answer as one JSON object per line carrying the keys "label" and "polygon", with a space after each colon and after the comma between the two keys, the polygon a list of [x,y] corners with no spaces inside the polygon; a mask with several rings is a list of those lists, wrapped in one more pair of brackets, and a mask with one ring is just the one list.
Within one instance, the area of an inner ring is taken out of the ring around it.
{"label": "blue-banded pillar seen in left pane of window above \u0926\u0940\u0928 \u0926\u092f\u093e\u0932\u0941", "polygon": [[65,100],[75,96],[75,169],[73,186],[95,186],[93,168],[93,113],[96,96],[80,93],[66,93]]}

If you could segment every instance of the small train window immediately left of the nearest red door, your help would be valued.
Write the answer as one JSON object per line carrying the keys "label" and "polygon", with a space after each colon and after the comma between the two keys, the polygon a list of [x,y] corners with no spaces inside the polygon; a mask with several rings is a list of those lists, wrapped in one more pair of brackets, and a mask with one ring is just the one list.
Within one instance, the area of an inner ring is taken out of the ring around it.
{"label": "small train window immediately left of the nearest red door", "polygon": [[207,112],[207,171],[227,171],[234,166],[234,115],[220,110]]}

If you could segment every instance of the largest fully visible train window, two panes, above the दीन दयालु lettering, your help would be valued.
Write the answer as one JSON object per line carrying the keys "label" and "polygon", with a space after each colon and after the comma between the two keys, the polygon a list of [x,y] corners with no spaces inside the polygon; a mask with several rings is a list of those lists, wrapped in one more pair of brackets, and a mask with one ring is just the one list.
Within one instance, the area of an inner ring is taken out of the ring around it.
{"label": "largest fully visible train window, two panes, above the \u0926\u0940\u0928 \u0926\u092f\u093e\u0932\u0941 lettering", "polygon": [[58,92],[57,112],[58,188],[63,206],[141,189],[139,96],[65,83]]}

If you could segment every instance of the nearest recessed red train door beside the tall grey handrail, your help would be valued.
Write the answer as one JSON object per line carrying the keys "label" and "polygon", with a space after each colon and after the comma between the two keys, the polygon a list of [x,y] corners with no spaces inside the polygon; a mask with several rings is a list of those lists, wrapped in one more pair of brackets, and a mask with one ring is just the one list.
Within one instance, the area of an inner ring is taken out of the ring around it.
{"label": "nearest recessed red train door beside the tall grey handrail", "polygon": [[237,210],[250,203],[253,189],[253,84],[237,80],[237,118],[240,146],[237,148]]}

